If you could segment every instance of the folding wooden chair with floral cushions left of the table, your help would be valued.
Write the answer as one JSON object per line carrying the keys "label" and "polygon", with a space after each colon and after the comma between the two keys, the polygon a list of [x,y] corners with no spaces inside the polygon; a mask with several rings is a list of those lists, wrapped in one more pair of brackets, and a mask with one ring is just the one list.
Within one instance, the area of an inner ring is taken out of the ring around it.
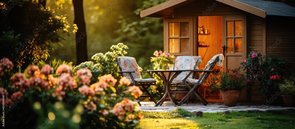
{"label": "folding wooden chair with floral cushions left of the table", "polygon": [[[156,79],[153,78],[150,72],[139,71],[138,65],[135,61],[135,58],[133,57],[119,56],[116,58],[116,61],[120,69],[118,73],[120,73],[123,77],[130,79],[130,86],[138,86],[143,93],[146,93],[145,95],[141,95],[139,98],[137,98],[139,101],[137,103],[141,106],[140,100],[150,99],[155,102],[155,104],[157,104],[153,96],[150,94],[150,92],[148,92],[148,88],[150,86],[156,85]],[[140,76],[141,72],[147,72],[151,79],[142,79]]]}

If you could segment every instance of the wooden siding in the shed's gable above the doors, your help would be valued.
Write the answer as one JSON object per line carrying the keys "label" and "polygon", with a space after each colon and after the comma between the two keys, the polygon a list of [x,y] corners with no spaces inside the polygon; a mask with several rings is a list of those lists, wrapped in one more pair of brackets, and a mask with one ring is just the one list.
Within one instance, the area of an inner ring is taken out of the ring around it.
{"label": "wooden siding in the shed's gable above the doors", "polygon": [[198,0],[174,9],[173,17],[249,14],[215,0]]}

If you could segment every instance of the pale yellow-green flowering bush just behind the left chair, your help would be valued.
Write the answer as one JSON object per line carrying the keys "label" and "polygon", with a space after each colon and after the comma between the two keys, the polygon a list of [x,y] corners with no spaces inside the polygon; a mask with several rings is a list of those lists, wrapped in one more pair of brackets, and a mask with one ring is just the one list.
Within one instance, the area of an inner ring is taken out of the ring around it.
{"label": "pale yellow-green flowering bush just behind the left chair", "polygon": [[126,49],[128,49],[128,47],[123,43],[112,45],[112,52],[107,52],[105,54],[97,53],[92,56],[91,59],[95,60],[96,64],[94,64],[92,61],[87,61],[76,66],[73,71],[76,72],[81,68],[89,69],[93,75],[90,84],[98,82],[97,77],[103,76],[105,74],[112,74],[115,79],[120,79],[121,75],[117,73],[119,71],[119,67],[117,65],[116,58],[118,56],[126,55]]}

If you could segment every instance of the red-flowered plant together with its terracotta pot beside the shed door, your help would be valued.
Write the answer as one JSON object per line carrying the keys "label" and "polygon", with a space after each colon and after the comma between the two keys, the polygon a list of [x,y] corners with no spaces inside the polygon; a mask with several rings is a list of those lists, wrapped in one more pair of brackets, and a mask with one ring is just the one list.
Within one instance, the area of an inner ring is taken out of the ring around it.
{"label": "red-flowered plant together with its terracotta pot beside the shed door", "polygon": [[234,107],[240,97],[242,89],[248,89],[249,79],[240,74],[240,69],[226,69],[220,67],[220,72],[213,72],[211,81],[211,94],[219,90],[225,106]]}

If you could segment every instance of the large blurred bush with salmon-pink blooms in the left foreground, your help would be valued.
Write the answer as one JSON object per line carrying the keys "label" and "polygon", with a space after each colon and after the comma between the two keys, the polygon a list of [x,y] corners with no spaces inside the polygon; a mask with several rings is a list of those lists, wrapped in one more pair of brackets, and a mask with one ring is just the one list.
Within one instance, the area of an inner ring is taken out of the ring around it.
{"label": "large blurred bush with salmon-pink blooms in the left foreground", "polygon": [[7,58],[0,62],[0,83],[10,80],[0,87],[6,127],[135,128],[143,117],[142,112],[133,112],[137,104],[132,101],[142,92],[137,86],[128,86],[129,79],[122,78],[117,85],[117,79],[108,74],[90,85],[88,69],[80,69],[74,76],[66,64],[56,69],[59,77],[53,77],[48,64],[41,70],[33,65],[27,68],[28,78],[24,73],[3,76],[12,72],[12,66]]}

